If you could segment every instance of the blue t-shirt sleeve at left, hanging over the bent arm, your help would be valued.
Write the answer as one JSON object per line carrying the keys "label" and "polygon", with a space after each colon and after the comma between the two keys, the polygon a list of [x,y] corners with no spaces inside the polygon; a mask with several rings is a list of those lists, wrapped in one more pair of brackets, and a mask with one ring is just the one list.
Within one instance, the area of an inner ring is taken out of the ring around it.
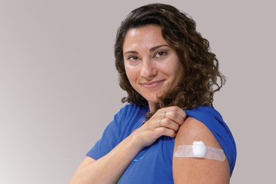
{"label": "blue t-shirt sleeve at left, hanging over the bent arm", "polygon": [[108,152],[119,143],[119,122],[121,122],[121,110],[115,114],[113,121],[111,121],[103,131],[101,139],[95,143],[86,156],[90,156],[95,160],[100,159],[102,156],[108,154]]}

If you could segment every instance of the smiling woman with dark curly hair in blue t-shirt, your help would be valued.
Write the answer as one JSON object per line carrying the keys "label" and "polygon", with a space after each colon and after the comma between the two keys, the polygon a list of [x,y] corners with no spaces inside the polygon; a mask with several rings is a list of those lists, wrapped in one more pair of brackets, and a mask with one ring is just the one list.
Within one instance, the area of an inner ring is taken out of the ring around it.
{"label": "smiling woman with dark curly hair in blue t-shirt", "polygon": [[[195,21],[165,4],[137,8],[118,29],[115,58],[128,104],[71,182],[229,183],[235,141],[212,106],[224,76]],[[226,159],[174,156],[194,141],[224,150]]]}

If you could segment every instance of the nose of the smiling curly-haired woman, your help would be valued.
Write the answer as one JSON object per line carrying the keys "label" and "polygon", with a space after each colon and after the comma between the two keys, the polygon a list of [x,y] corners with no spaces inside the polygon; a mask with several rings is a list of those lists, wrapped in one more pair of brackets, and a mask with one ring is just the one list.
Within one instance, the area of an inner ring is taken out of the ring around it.
{"label": "nose of the smiling curly-haired woman", "polygon": [[155,66],[155,63],[153,63],[150,59],[144,59],[142,62],[140,75],[148,80],[156,76],[157,68]]}

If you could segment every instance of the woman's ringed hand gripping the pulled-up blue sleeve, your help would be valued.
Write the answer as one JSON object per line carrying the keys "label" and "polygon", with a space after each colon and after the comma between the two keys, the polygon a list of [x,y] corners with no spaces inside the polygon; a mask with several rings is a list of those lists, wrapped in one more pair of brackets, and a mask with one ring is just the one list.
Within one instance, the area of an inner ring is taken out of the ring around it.
{"label": "woman's ringed hand gripping the pulled-up blue sleeve", "polygon": [[152,145],[160,136],[175,137],[185,119],[186,113],[181,108],[161,108],[131,135],[135,137],[138,145],[146,147]]}

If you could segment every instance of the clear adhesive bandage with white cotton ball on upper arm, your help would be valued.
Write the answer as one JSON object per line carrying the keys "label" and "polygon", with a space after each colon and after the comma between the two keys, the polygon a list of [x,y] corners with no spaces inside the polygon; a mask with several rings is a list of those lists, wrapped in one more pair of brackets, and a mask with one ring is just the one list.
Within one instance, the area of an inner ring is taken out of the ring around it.
{"label": "clear adhesive bandage with white cotton ball on upper arm", "polygon": [[216,148],[206,146],[202,141],[194,141],[193,145],[179,145],[174,157],[193,157],[202,159],[213,159],[217,161],[224,161],[224,151]]}

